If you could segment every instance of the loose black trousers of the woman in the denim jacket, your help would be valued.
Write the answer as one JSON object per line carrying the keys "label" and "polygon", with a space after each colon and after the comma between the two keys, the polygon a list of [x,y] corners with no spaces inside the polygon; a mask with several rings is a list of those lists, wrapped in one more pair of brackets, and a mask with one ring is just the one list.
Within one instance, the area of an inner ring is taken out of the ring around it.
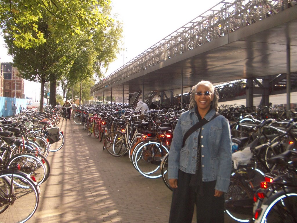
{"label": "loose black trousers of the woman in the denim jacket", "polygon": [[199,195],[189,186],[190,180],[191,174],[178,171],[178,188],[173,189],[169,223],[191,223],[195,204],[197,223],[224,223],[225,194],[214,197],[216,181],[202,182],[203,194]]}

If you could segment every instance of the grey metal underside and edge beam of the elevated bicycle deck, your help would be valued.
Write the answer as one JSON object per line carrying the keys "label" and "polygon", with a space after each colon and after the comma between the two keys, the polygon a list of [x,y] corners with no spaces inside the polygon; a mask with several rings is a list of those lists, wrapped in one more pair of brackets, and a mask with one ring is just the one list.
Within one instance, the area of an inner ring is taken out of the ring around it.
{"label": "grey metal underside and edge beam of the elevated bicycle deck", "polygon": [[138,91],[191,87],[200,80],[220,83],[297,71],[297,7],[245,26],[186,53],[162,61],[95,95],[125,96]]}

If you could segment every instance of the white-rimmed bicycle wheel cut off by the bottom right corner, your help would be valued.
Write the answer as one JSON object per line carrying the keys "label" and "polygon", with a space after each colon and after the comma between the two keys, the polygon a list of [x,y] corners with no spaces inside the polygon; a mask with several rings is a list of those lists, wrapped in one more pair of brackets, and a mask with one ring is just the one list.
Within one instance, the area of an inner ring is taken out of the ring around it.
{"label": "white-rimmed bicycle wheel cut off by the bottom right corner", "polygon": [[283,223],[297,222],[297,193],[281,193],[267,207],[262,222]]}

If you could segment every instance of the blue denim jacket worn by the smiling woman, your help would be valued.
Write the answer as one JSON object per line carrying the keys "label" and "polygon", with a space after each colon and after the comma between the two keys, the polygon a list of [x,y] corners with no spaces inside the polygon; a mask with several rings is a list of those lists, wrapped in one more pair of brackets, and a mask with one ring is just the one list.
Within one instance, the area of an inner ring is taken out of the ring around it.
{"label": "blue denim jacket worn by the smiling woman", "polygon": [[[209,121],[215,114],[205,115]],[[178,179],[178,169],[194,174],[197,164],[198,136],[201,145],[202,181],[217,180],[215,189],[227,192],[231,174],[231,136],[228,120],[220,115],[193,132],[182,147],[184,134],[198,122],[195,109],[181,114],[174,129],[168,158],[168,179]]]}

